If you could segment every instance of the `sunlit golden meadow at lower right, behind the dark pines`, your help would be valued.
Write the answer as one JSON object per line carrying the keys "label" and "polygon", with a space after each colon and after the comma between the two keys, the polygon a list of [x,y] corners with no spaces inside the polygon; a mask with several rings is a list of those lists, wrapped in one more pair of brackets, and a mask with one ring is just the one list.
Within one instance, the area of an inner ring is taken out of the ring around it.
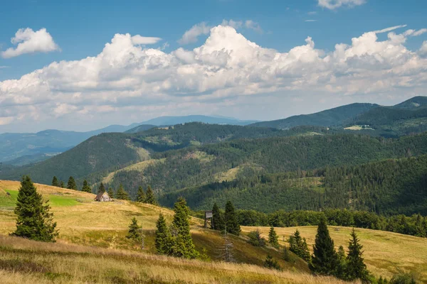
{"label": "sunlit golden meadow at lower right, behind the dark pines", "polygon": [[[254,227],[243,226],[242,231],[248,233]],[[263,236],[268,236],[268,227],[258,227]],[[298,229],[302,237],[307,239],[307,244],[312,250],[315,242],[317,226],[298,226],[289,228],[275,228],[279,235],[280,244],[285,244],[290,234]],[[349,234],[352,228],[342,226],[329,226],[330,235],[334,239],[336,248],[344,246],[347,250]],[[391,278],[399,272],[415,273],[418,280],[427,283],[427,239],[416,236],[377,231],[371,229],[355,228],[360,243],[364,246],[364,258],[369,271],[376,276],[382,275]]]}

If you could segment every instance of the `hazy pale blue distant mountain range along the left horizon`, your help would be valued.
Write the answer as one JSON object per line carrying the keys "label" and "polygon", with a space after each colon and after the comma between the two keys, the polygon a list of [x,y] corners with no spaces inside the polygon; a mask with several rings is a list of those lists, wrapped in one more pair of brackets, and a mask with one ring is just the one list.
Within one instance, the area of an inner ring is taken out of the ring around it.
{"label": "hazy pale blue distant mountain range along the left horizon", "polygon": [[111,125],[94,131],[60,131],[49,129],[37,133],[2,133],[0,134],[0,163],[9,165],[26,165],[51,158],[53,155],[67,151],[86,139],[100,133],[128,132],[136,133],[156,126],[169,126],[199,121],[205,124],[247,125],[256,121],[241,121],[220,116],[160,116],[139,124],[128,126]]}

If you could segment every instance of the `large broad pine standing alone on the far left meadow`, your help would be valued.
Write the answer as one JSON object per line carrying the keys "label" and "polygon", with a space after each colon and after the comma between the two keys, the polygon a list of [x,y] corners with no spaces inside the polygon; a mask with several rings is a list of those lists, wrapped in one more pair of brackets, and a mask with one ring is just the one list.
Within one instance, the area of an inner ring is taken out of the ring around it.
{"label": "large broad pine standing alone on the far left meadow", "polygon": [[31,178],[24,176],[14,210],[18,216],[16,231],[11,235],[36,241],[54,242],[58,236],[58,230],[50,209],[48,202],[43,202],[43,197],[37,192]]}

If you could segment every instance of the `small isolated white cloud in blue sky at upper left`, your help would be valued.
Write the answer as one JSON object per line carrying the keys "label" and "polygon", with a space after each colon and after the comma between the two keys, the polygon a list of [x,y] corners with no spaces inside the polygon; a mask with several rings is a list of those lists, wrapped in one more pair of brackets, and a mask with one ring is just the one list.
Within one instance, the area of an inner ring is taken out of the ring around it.
{"label": "small isolated white cloud in blue sky at upper left", "polygon": [[11,43],[17,44],[16,48],[8,48],[1,52],[3,58],[13,58],[26,53],[49,53],[60,50],[46,28],[41,28],[38,31],[33,31],[31,28],[20,28],[14,38],[11,38]]}

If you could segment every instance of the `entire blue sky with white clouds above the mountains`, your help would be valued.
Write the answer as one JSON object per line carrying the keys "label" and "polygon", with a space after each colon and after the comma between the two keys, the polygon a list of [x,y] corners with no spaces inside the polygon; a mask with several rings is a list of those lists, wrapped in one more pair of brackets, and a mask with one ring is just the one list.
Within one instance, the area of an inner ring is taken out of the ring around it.
{"label": "entire blue sky with white clouds above the mountains", "polygon": [[2,1],[0,133],[427,95],[427,1]]}

